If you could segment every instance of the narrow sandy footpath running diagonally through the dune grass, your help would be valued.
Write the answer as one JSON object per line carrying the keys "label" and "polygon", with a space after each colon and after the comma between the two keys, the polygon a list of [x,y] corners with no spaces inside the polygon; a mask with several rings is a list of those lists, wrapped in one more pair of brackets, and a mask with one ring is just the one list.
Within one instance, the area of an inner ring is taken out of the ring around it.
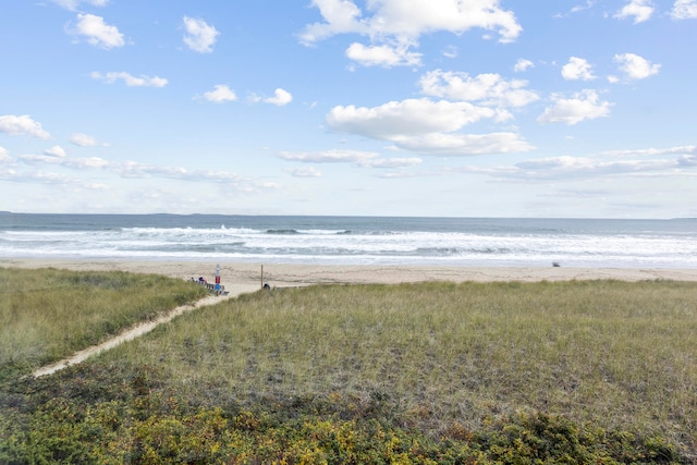
{"label": "narrow sandy footpath running diagonally through the dune grass", "polygon": [[84,360],[86,360],[87,358],[89,358],[93,355],[96,355],[100,352],[105,352],[108,351],[110,348],[115,347],[119,344],[122,344],[126,341],[131,341],[135,338],[139,338],[143,334],[146,334],[150,331],[152,331],[155,328],[157,328],[159,325],[169,322],[171,320],[173,320],[174,318],[176,318],[178,316],[185,314],[187,311],[192,311],[196,308],[200,308],[200,307],[205,307],[208,305],[213,305],[217,304],[221,301],[228,299],[230,297],[235,297],[240,294],[242,294],[244,291],[243,290],[232,290],[230,291],[230,293],[228,295],[210,295],[208,297],[204,297],[200,301],[195,302],[194,304],[189,304],[189,305],[182,305],[179,306],[176,308],[174,308],[172,311],[170,311],[169,314],[162,315],[161,317],[152,320],[152,321],[146,321],[143,323],[139,323],[124,332],[122,332],[121,334],[102,342],[101,344],[97,344],[97,345],[93,345],[90,347],[84,348],[80,352],[76,352],[75,354],[73,354],[72,356],[68,357],[68,358],[63,358],[60,362],[57,362],[56,364],[49,365],[49,366],[45,366],[41,367],[39,369],[37,369],[36,371],[34,371],[34,377],[35,378],[39,378],[46,375],[51,375],[54,374],[56,371],[62,370],[63,368],[68,368],[71,365],[75,365],[75,364],[80,364]]}

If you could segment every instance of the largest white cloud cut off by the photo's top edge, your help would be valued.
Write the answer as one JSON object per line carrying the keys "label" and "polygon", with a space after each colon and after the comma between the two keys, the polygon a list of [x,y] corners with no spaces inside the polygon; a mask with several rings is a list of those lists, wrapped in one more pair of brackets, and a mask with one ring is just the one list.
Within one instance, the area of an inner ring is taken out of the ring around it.
{"label": "largest white cloud cut off by the photo's top edge", "polygon": [[501,42],[510,42],[522,32],[514,13],[502,10],[499,0],[374,0],[367,2],[365,15],[351,0],[313,0],[313,5],[323,22],[305,27],[301,35],[305,45],[338,34],[416,40],[432,32],[462,34],[476,27],[498,32]]}

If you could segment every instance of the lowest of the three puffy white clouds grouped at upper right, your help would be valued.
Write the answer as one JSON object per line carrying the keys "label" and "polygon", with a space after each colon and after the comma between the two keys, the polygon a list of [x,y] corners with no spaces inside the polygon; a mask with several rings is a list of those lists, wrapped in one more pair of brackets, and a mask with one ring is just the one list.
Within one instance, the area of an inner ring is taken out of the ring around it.
{"label": "lowest of the three puffy white clouds grouped at upper right", "polygon": [[554,105],[545,109],[545,113],[537,119],[539,123],[576,124],[584,120],[607,117],[612,107],[609,101],[600,101],[595,90],[584,90],[572,98],[563,98],[555,94],[552,95],[552,100]]}

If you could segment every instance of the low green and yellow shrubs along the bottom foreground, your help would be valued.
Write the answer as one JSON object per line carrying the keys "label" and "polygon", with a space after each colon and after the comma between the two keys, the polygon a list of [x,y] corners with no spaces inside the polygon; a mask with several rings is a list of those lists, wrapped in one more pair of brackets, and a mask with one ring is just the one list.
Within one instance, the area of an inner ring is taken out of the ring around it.
{"label": "low green and yellow shrubs along the bottom foreground", "polygon": [[[119,384],[119,374],[102,369]],[[342,419],[320,413],[292,418],[282,405],[273,411],[264,404],[255,411],[197,407],[158,390],[158,371],[148,367],[121,381],[119,399],[81,397],[74,392],[90,391],[80,386],[86,370],[71,371],[62,376],[56,396],[40,395],[28,382],[20,407],[3,407],[0,463],[687,463],[665,438],[609,431],[540,412],[487,417],[475,430],[453,423],[433,438],[389,421],[379,408]]]}

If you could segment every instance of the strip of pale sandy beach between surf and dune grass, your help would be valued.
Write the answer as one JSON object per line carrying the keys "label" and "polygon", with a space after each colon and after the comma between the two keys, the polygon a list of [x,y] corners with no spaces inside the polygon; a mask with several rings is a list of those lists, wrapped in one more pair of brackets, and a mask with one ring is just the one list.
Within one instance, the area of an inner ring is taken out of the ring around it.
{"label": "strip of pale sandy beach between surf and dune grass", "polygon": [[216,264],[201,261],[94,260],[0,258],[5,268],[157,273],[180,279],[203,277],[212,282],[220,265],[221,282],[233,294],[253,292],[262,283],[272,287],[330,283],[404,283],[423,281],[568,281],[615,279],[623,281],[697,281],[697,269],[571,268],[571,267],[441,267],[441,266],[323,266],[294,264]]}

